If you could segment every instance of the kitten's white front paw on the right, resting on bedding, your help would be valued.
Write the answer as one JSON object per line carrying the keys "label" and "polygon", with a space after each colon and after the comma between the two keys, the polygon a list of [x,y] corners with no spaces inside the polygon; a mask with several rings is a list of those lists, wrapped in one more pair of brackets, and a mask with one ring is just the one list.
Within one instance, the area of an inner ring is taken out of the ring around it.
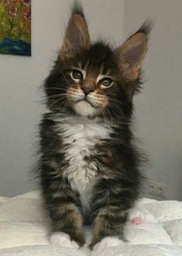
{"label": "kitten's white front paw on the right, resting on bedding", "polygon": [[93,250],[96,251],[107,247],[118,247],[123,244],[124,242],[118,237],[104,237],[99,243],[97,243],[93,247]]}

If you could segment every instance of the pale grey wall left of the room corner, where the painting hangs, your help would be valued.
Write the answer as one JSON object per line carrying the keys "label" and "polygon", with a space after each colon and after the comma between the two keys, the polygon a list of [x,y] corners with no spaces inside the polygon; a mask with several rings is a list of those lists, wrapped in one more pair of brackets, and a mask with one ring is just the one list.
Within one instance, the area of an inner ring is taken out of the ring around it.
{"label": "pale grey wall left of the room corner, where the painting hangs", "polygon": [[[0,195],[34,189],[30,169],[36,152],[37,125],[43,111],[38,87],[62,42],[68,0],[32,0],[32,57],[0,56]],[[121,41],[123,0],[83,1],[94,37]],[[113,42],[113,41],[112,41]]]}

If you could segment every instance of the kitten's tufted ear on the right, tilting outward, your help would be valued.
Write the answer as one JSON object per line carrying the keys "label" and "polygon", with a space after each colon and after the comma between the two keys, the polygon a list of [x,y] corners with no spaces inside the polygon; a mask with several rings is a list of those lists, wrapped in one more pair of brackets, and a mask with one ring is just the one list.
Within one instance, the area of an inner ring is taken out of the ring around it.
{"label": "kitten's tufted ear on the right, tilting outward", "polygon": [[115,50],[119,67],[123,77],[128,80],[137,80],[147,53],[147,39],[151,29],[151,23],[144,23],[143,26],[130,36],[122,46]]}

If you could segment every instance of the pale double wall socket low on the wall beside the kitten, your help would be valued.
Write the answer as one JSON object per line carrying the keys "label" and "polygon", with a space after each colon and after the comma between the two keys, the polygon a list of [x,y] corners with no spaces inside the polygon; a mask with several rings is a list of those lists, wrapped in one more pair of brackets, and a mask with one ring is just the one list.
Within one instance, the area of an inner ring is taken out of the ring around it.
{"label": "pale double wall socket low on the wall beside the kitten", "polygon": [[154,181],[149,181],[148,183],[148,193],[153,196],[160,196],[166,198],[167,184],[156,183]]}

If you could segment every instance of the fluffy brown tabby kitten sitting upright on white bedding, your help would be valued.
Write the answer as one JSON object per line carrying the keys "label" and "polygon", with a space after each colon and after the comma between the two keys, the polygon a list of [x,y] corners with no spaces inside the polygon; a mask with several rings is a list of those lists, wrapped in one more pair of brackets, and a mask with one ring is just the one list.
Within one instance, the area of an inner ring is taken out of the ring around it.
{"label": "fluffy brown tabby kitten sitting upright on white bedding", "polygon": [[91,43],[82,7],[74,5],[56,63],[45,80],[40,125],[42,195],[52,243],[80,247],[83,224],[95,244],[123,238],[140,191],[140,154],[130,130],[133,95],[147,52],[150,24],[117,49]]}

